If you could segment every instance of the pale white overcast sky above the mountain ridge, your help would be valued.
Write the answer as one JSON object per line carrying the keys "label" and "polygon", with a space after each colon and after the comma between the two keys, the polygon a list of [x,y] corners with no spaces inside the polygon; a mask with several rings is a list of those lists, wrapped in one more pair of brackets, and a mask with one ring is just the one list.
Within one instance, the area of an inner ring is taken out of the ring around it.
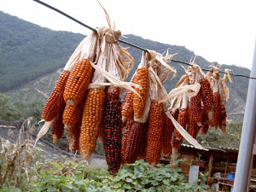
{"label": "pale white overcast sky above the mountain ridge", "polygon": [[[85,24],[107,26],[96,0],[43,0]],[[207,61],[252,67],[255,0],[100,0],[122,34],[185,46]],[[90,30],[32,0],[0,0],[0,10],[54,30]],[[1,25],[1,24],[0,24]]]}

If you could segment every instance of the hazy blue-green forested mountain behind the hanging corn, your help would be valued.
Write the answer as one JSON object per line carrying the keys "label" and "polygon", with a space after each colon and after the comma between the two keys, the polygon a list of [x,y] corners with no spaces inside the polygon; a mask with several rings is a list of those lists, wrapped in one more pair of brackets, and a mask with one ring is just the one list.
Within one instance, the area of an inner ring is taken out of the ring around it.
{"label": "hazy blue-green forested mountain behind the hanging corn", "polygon": [[[0,22],[0,92],[11,96],[13,101],[45,102],[46,97],[55,86],[55,80],[58,78],[61,68],[64,67],[84,35],[52,31],[3,12],[0,12]],[[125,35],[125,37],[122,39],[131,44],[137,44],[145,49],[153,49],[159,53],[170,48],[169,53],[177,53],[174,59],[179,61],[189,62],[195,56],[193,51],[184,46],[161,44],[132,34]],[[125,44],[121,45],[127,47]],[[129,52],[138,64],[142,51],[130,46]],[[195,62],[206,69],[212,64],[198,55]],[[177,69],[177,78],[166,81],[167,91],[172,90],[184,73],[183,67],[179,63],[172,61],[170,65]],[[133,68],[129,80],[136,68],[137,65]],[[222,65],[223,71],[225,68],[232,69],[235,74],[250,74],[250,70],[245,67]],[[228,119],[242,119],[247,86],[248,79],[241,77],[236,78],[236,84],[229,85]]]}

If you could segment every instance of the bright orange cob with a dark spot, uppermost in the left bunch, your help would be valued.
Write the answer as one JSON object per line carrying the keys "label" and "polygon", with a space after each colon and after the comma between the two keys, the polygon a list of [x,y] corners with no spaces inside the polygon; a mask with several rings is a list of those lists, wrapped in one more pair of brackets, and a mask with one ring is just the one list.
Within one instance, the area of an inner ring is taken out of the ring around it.
{"label": "bright orange cob with a dark spot, uppermost in the left bunch", "polygon": [[77,61],[67,79],[64,101],[70,105],[78,104],[84,98],[92,74],[90,61],[85,59]]}

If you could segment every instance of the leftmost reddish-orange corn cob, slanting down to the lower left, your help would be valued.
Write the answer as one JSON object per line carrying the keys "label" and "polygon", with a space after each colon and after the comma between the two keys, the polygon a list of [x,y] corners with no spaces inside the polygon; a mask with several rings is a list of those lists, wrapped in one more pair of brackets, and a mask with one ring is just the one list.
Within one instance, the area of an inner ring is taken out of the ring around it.
{"label": "leftmost reddish-orange corn cob, slanting down to the lower left", "polygon": [[[44,105],[42,119],[50,121],[55,118],[58,109],[63,101],[63,92],[69,76],[69,71],[63,71],[55,84],[55,89],[51,92],[47,102]],[[63,101],[64,102],[64,101]]]}

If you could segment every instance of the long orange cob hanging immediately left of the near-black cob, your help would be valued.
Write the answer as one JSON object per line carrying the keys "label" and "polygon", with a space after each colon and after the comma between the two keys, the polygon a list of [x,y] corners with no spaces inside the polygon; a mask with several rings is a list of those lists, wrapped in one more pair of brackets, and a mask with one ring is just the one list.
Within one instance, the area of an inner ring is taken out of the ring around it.
{"label": "long orange cob hanging immediately left of the near-black cob", "polygon": [[102,125],[105,97],[105,91],[100,88],[90,89],[86,96],[79,139],[81,154],[85,160],[89,160],[96,148],[96,139]]}

